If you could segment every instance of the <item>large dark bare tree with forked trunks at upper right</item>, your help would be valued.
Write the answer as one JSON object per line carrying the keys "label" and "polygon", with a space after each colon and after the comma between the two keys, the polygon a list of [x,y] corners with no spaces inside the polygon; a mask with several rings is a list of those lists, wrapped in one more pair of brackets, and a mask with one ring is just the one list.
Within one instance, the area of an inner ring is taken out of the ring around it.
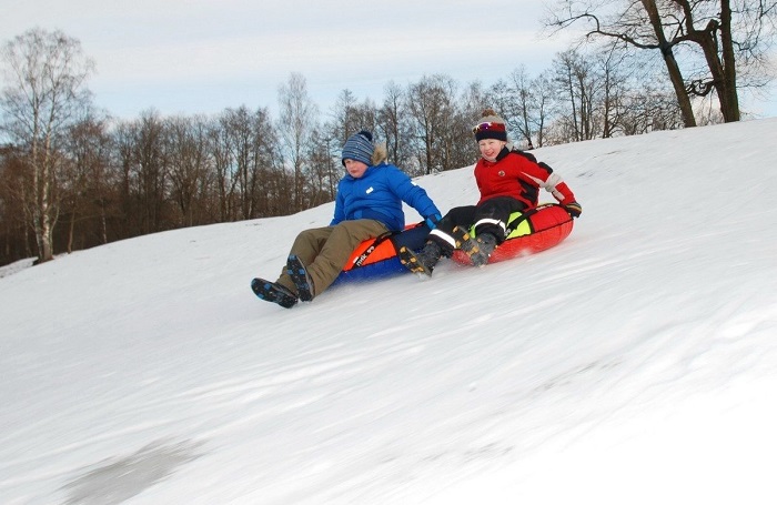
{"label": "large dark bare tree with forked trunks at upper right", "polygon": [[[750,0],[561,0],[547,24],[587,21],[586,37],[620,40],[659,51],[686,127],[696,125],[693,97],[717,95],[724,121],[740,119],[738,88],[744,70],[764,67],[775,37],[777,4]],[[685,49],[685,51],[683,51]],[[690,70],[685,78],[679,55]],[[703,61],[704,71],[695,69]]]}

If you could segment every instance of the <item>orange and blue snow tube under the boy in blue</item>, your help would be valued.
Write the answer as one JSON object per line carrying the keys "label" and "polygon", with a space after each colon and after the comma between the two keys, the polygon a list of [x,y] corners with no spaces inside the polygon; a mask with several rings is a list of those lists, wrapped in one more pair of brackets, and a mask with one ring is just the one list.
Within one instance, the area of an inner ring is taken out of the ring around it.
{"label": "orange and blue snow tube under the boy in blue", "polygon": [[400,263],[396,252],[403,245],[420,250],[424,246],[428,232],[430,229],[425,224],[418,223],[405,228],[400,233],[387,233],[377,239],[365,240],[353,251],[334,282],[366,281],[410,273],[410,270]]}

